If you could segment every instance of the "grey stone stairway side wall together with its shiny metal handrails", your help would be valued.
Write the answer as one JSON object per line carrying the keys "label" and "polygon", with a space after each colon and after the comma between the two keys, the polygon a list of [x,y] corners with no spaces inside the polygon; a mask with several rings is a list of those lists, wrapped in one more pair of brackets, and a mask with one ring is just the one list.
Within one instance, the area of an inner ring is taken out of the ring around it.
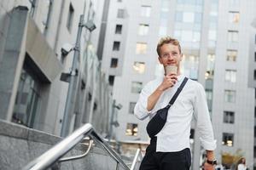
{"label": "grey stone stairway side wall together with its shiny metal handrails", "polygon": [[10,122],[0,127],[1,170],[135,170],[142,160],[137,150],[131,163],[123,161],[89,123],[65,139]]}

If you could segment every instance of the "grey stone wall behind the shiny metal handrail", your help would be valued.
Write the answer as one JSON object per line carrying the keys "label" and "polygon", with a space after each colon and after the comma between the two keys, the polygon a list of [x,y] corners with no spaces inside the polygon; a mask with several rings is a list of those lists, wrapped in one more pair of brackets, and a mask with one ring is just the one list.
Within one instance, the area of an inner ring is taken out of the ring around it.
{"label": "grey stone wall behind the shiny metal handrail", "polygon": [[[49,133],[39,132],[20,125],[0,121],[0,165],[1,170],[18,170],[25,167],[29,161],[42,155],[51,146],[61,141],[61,138]],[[87,146],[78,144],[67,156],[84,153]],[[88,156],[76,161],[61,163],[60,169],[113,170],[116,161],[108,156],[98,144],[94,145]],[[120,169],[123,169],[120,167]]]}

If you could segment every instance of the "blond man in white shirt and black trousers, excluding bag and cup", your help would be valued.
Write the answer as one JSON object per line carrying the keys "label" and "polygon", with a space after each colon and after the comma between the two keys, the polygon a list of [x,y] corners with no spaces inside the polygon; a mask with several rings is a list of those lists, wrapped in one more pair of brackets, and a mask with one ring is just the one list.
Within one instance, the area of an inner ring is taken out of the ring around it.
{"label": "blond man in white shirt and black trousers, excluding bag and cup", "polygon": [[[177,66],[177,74],[165,74],[148,82],[143,88],[134,109],[135,115],[141,120],[147,116],[152,118],[156,111],[166,107],[184,79],[180,72],[183,54],[176,39],[161,38],[157,45],[157,53],[160,64],[164,67]],[[189,170],[189,135],[193,114],[197,119],[201,144],[207,150],[204,169],[214,169],[216,161],[213,150],[216,148],[216,141],[213,138],[205,90],[199,82],[189,79],[168,110],[165,126],[150,140],[140,170]]]}

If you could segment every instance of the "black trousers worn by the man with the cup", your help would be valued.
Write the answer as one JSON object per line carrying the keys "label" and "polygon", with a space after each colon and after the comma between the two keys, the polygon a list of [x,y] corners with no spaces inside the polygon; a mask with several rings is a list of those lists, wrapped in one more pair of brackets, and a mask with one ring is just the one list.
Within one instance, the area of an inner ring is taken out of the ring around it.
{"label": "black trousers worn by the man with the cup", "polygon": [[189,148],[177,152],[156,152],[155,149],[156,138],[150,140],[140,170],[189,170],[191,166]]}

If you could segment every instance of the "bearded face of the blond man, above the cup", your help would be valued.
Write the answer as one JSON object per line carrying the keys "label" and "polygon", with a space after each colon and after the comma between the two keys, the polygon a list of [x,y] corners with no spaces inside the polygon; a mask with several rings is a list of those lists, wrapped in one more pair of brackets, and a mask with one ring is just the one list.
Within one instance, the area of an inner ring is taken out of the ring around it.
{"label": "bearded face of the blond man, above the cup", "polygon": [[160,48],[160,57],[158,59],[164,67],[166,65],[176,65],[179,68],[182,58],[183,55],[180,54],[178,47],[172,43],[165,43]]}

